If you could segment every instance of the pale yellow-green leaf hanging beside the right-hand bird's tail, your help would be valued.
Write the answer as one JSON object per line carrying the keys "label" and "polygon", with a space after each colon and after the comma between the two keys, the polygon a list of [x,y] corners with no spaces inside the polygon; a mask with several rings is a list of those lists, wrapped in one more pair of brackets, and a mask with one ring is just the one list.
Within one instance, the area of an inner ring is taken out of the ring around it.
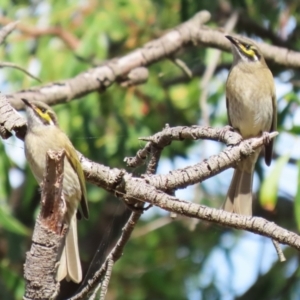
{"label": "pale yellow-green leaf hanging beside the right-hand bird's tail", "polygon": [[273,210],[277,203],[279,178],[289,158],[290,154],[286,154],[277,159],[270,175],[262,183],[259,199],[264,209]]}

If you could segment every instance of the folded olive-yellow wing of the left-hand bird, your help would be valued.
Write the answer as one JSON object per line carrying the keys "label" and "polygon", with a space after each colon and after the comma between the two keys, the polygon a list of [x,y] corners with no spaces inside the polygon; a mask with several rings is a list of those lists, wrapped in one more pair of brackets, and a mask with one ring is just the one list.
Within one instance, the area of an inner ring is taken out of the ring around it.
{"label": "folded olive-yellow wing of the left-hand bird", "polygon": [[89,217],[89,209],[88,209],[88,204],[87,204],[84,173],[83,173],[77,152],[70,141],[68,141],[68,147],[66,147],[65,151],[66,151],[67,159],[70,162],[72,168],[76,172],[78,179],[79,179],[81,195],[82,195],[81,201],[80,201],[80,206],[81,206],[84,217],[87,219]]}

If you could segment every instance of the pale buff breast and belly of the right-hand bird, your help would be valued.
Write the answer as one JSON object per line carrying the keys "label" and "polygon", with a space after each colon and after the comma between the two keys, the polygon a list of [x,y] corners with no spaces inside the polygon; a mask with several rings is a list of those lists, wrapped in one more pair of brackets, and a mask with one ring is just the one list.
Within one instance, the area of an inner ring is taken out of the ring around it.
{"label": "pale buff breast and belly of the right-hand bird", "polygon": [[269,131],[272,125],[274,83],[268,68],[243,70],[233,67],[226,83],[228,116],[243,138]]}

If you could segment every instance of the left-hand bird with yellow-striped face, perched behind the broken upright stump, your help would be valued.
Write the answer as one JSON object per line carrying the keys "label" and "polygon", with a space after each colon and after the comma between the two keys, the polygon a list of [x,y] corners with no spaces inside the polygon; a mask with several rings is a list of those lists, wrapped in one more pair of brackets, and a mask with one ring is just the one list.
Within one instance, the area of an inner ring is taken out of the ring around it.
{"label": "left-hand bird with yellow-striped face, perched behind the broken upright stump", "polygon": [[43,102],[27,101],[28,128],[25,136],[25,155],[37,182],[41,185],[46,169],[48,150],[65,150],[62,199],[66,205],[65,222],[69,224],[65,247],[62,251],[56,279],[66,278],[79,283],[82,270],[77,241],[77,207],[80,202],[82,213],[88,218],[88,206],[83,170],[76,150],[69,138],[61,131],[53,110]]}

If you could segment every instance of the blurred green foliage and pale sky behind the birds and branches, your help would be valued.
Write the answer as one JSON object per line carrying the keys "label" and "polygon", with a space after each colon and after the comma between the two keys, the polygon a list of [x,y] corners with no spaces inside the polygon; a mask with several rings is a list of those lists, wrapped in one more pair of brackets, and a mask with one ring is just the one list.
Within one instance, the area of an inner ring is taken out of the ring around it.
{"label": "blurred green foliage and pale sky behind the birds and branches", "polygon": [[[203,9],[212,14],[208,26],[224,26],[229,16],[238,10],[237,32],[297,50],[300,48],[299,8],[300,2],[296,0],[2,0],[0,24],[8,18],[20,20],[22,27],[0,47],[0,59],[28,69],[43,83],[58,82],[142,46]],[[55,27],[61,35],[47,33],[50,27]],[[45,29],[43,34],[34,34],[41,29]],[[69,38],[63,39],[65,36]],[[198,70],[191,80],[170,60],[163,60],[149,67],[150,77],[144,85],[121,88],[114,84],[105,92],[58,105],[55,110],[60,126],[85,156],[118,168],[125,168],[124,157],[133,156],[143,146],[139,137],[160,131],[166,123],[170,126],[201,124],[203,115],[208,113],[211,126],[223,126],[227,122],[224,85],[231,54],[222,53],[209,83],[208,111],[199,106],[201,75],[210,63],[212,51],[199,46],[178,53],[187,66]],[[299,149],[300,73],[276,65],[270,67],[276,77],[281,133],[276,142],[275,158],[286,156],[268,172],[263,162],[258,164],[258,189],[265,182],[258,195],[269,211],[259,203],[254,211],[256,215],[297,230],[300,228],[300,188],[299,175],[297,178],[295,174],[299,173],[299,154],[297,156],[293,150],[297,145]],[[2,93],[38,85],[12,69],[1,70],[0,79]],[[161,169],[167,172],[169,165],[178,167],[178,158],[186,165],[198,162],[220,151],[221,147],[207,142],[173,143],[163,152]],[[21,299],[23,263],[30,247],[28,232],[34,227],[40,194],[25,164],[22,145],[12,138],[3,141],[0,149],[0,298]],[[138,175],[143,168],[130,171]],[[220,207],[228,185],[229,176],[221,174],[185,195],[196,202]],[[292,200],[296,189],[294,215]],[[120,206],[112,195],[88,185],[88,199],[90,220],[79,224],[84,271],[98,244],[102,245],[104,255],[105,249],[120,233],[115,225],[121,228],[124,223],[123,205]],[[266,204],[266,199],[271,202]],[[270,203],[272,209],[275,207],[272,211]],[[137,228],[145,233],[131,240],[115,265],[107,299],[213,300],[237,296],[238,299],[298,299],[295,296],[300,292],[296,251],[286,249],[286,264],[275,262],[273,249],[259,251],[255,259],[253,255],[248,258],[259,247],[264,249],[265,239],[256,238],[256,244],[248,252],[237,253],[236,249],[245,240],[254,239],[253,235],[205,222],[199,222],[191,230],[192,220],[182,218],[148,232],[147,225],[162,215],[160,210],[153,208],[145,214]],[[237,263],[238,255],[243,256],[242,263]],[[274,259],[263,268],[266,256]],[[256,273],[250,277],[251,272]],[[237,286],[241,283],[237,278],[244,279],[241,286]],[[72,285],[64,283],[61,299],[73,291]]]}

